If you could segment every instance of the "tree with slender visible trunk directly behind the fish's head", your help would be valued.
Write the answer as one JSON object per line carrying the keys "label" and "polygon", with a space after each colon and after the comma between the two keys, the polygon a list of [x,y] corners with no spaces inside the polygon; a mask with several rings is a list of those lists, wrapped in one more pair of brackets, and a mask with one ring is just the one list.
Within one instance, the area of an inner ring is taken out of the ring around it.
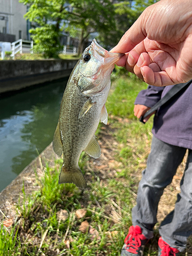
{"label": "tree with slender visible trunk directly behind the fish's head", "polygon": [[[78,54],[82,53],[84,44],[91,33],[107,35],[116,30],[114,20],[115,7],[109,0],[77,0],[71,3],[73,11],[69,14],[66,31],[79,34]],[[75,35],[75,34],[73,34]]]}

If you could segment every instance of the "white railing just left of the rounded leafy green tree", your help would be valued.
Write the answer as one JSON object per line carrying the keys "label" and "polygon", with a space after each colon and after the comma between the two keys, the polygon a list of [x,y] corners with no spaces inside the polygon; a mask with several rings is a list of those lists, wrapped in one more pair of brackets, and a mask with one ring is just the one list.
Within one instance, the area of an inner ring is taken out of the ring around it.
{"label": "white railing just left of the rounded leafy green tree", "polygon": [[19,39],[15,42],[12,42],[11,51],[12,51],[11,57],[13,59],[15,59],[15,54],[17,52],[19,52],[19,53],[23,53],[23,52],[29,53],[30,52],[33,54],[33,41]]}

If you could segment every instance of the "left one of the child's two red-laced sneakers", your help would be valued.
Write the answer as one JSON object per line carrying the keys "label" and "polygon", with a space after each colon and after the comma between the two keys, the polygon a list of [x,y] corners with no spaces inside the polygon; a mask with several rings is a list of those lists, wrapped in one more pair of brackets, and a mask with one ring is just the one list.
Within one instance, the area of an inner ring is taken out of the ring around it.
{"label": "left one of the child's two red-laced sneakers", "polygon": [[142,234],[142,229],[139,226],[131,226],[124,240],[121,256],[142,256],[147,242],[148,239]]}

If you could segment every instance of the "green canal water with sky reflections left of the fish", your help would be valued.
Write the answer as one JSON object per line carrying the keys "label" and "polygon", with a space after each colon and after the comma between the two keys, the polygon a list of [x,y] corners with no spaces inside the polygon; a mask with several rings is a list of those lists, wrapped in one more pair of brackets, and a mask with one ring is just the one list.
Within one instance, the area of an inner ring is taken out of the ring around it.
{"label": "green canal water with sky reflections left of the fish", "polygon": [[0,98],[0,191],[53,140],[67,79]]}

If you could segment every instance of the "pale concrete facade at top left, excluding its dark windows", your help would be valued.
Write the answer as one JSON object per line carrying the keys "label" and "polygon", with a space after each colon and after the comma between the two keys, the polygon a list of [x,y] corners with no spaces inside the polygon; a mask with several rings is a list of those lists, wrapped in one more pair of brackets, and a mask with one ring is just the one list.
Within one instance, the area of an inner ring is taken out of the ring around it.
{"label": "pale concrete facade at top left, excluding its dark windows", "polygon": [[[19,39],[19,30],[22,31],[22,39],[27,40],[27,20],[24,15],[27,12],[27,6],[19,3],[19,0],[0,0],[0,16],[8,18],[8,34],[16,35]],[[3,33],[5,20],[0,20],[0,31]]]}

